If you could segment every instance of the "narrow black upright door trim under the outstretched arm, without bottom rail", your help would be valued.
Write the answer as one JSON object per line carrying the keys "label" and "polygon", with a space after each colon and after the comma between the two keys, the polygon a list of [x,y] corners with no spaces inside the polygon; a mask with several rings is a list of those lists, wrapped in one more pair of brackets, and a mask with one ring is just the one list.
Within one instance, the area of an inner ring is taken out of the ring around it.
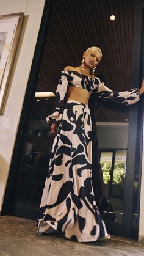
{"label": "narrow black upright door trim under the outstretched arm, without bottom rail", "polygon": [[[132,88],[140,85],[140,50],[142,45],[142,14],[143,0],[135,0],[135,23],[134,23],[134,51],[132,61]],[[124,234],[131,237],[132,233],[132,210],[134,194],[135,177],[135,154],[137,142],[137,121],[138,121],[139,103],[137,106],[131,106],[129,111],[129,133],[128,133],[128,152],[126,161],[126,183],[124,189],[123,205],[123,228]],[[131,195],[131,196],[130,196]]]}

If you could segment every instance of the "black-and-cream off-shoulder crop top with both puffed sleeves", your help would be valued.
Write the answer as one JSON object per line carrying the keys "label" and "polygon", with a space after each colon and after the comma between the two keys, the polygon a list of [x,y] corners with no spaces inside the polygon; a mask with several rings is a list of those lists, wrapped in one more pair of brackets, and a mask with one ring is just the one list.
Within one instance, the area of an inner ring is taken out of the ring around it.
{"label": "black-and-cream off-shoulder crop top with both puffed sleeves", "polygon": [[113,92],[106,87],[98,77],[91,78],[78,71],[63,70],[56,90],[53,114],[46,118],[48,123],[57,123],[62,120],[62,108],[68,86],[88,90],[88,92],[95,93],[96,97],[104,99],[105,101],[111,99],[122,105],[132,105],[140,99],[140,91],[137,88],[123,92]]}

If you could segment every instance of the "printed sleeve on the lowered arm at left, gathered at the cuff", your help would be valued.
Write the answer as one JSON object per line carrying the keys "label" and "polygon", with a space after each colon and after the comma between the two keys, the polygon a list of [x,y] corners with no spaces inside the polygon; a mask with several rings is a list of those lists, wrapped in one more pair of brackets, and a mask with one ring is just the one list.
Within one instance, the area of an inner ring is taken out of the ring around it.
{"label": "printed sleeve on the lowered arm at left, gathered at the cuff", "polygon": [[59,123],[62,120],[62,106],[67,94],[68,80],[70,80],[70,75],[67,72],[62,71],[61,78],[56,90],[56,100],[54,102],[53,113],[46,117],[46,122]]}

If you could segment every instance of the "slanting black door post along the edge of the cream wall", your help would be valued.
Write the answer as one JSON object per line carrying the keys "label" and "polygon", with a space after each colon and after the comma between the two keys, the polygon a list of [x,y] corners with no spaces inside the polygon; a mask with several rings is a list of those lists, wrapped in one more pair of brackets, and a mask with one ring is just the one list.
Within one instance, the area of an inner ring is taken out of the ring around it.
{"label": "slanting black door post along the edge of the cream wall", "polygon": [[27,129],[27,120],[30,118],[30,110],[34,104],[35,85],[38,81],[38,75],[40,71],[41,59],[43,56],[43,49],[45,46],[46,37],[48,34],[49,20],[52,10],[52,0],[45,1],[45,7],[43,10],[43,16],[40,24],[40,31],[38,33],[37,44],[35,47],[34,58],[32,60],[31,72],[29,75],[29,81],[27,83],[26,96],[24,98],[23,110],[21,112],[20,124],[18,127],[18,133],[16,136],[15,147],[13,150],[12,163],[10,166],[9,178],[7,181],[7,188],[5,191],[4,204],[1,214],[7,214],[9,210],[10,202],[12,202],[13,185],[15,183],[16,175],[18,175],[18,169],[20,167],[19,159],[21,152],[23,152],[24,134]]}

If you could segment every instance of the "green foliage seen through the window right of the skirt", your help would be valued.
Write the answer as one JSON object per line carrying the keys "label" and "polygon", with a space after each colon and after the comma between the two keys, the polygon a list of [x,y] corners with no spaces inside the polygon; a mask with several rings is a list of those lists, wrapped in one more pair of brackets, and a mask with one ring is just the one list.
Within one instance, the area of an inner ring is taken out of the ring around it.
{"label": "green foliage seen through the window right of the skirt", "polygon": [[[103,170],[104,183],[109,183],[111,163],[101,163],[101,169]],[[124,187],[125,181],[125,163],[115,163],[115,169],[113,172],[113,184],[121,185]]]}

